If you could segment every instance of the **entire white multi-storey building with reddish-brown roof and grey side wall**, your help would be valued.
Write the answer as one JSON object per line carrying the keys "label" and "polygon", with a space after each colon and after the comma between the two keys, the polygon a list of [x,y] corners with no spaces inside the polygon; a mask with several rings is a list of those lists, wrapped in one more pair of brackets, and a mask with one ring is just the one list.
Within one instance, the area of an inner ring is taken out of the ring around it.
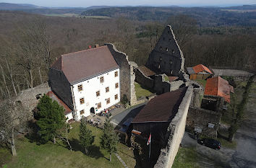
{"label": "entire white multi-storey building with reddish-brown roof and grey side wall", "polygon": [[107,46],[62,55],[50,68],[49,84],[74,120],[120,101],[119,66]]}

